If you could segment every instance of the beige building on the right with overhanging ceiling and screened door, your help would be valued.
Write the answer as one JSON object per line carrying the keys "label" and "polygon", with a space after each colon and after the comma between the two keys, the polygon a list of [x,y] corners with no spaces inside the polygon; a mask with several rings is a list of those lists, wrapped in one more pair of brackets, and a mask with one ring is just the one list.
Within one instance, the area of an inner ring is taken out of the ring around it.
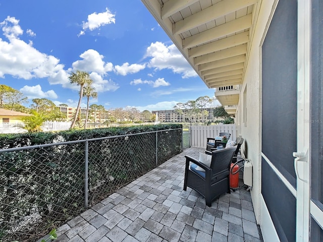
{"label": "beige building on the right with overhanging ceiling and screened door", "polygon": [[142,2],[235,113],[263,240],[323,241],[323,1]]}

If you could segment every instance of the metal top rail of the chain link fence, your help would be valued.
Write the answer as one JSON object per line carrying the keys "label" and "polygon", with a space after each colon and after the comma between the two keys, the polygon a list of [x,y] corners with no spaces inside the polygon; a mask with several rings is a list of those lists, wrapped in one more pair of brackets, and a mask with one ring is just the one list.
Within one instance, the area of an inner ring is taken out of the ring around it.
{"label": "metal top rail of the chain link fence", "polygon": [[92,139],[85,139],[85,140],[73,140],[73,141],[65,141],[65,142],[42,144],[42,145],[32,145],[32,146],[16,147],[16,148],[9,148],[9,149],[0,149],[0,153],[12,152],[12,151],[20,151],[20,150],[30,150],[30,149],[37,149],[37,148],[41,149],[41,148],[50,147],[50,146],[56,146],[56,145],[70,145],[70,144],[77,144],[77,143],[84,143],[84,142],[91,142],[91,141],[99,141],[99,140],[107,140],[107,139],[115,139],[115,138],[121,138],[121,137],[127,137],[127,136],[151,134],[151,133],[158,133],[158,132],[165,132],[165,131],[172,131],[172,130],[182,130],[182,129],[178,128],[178,129],[169,129],[169,130],[156,130],[156,131],[149,131],[149,132],[142,132],[142,133],[135,133],[135,134],[127,134],[127,135],[115,135],[115,136],[106,136],[106,137],[92,138]]}

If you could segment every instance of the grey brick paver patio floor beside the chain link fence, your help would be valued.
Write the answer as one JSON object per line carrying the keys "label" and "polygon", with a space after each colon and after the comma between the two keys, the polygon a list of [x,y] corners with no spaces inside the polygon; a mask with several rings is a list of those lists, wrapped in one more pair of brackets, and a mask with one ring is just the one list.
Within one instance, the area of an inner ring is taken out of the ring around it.
{"label": "grey brick paver patio floor beside the chain link fence", "polygon": [[248,191],[222,195],[211,207],[183,191],[184,155],[199,151],[184,150],[70,220],[56,241],[262,241]]}

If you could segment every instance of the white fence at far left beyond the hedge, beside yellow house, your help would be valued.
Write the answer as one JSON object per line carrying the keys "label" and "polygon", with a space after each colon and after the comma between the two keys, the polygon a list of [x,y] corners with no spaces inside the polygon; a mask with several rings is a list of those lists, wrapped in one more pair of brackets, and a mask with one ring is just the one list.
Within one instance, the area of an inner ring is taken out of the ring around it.
{"label": "white fence at far left beyond the hedge, beside yellow house", "polygon": [[[68,130],[71,124],[71,122],[44,122],[41,128],[43,131]],[[27,130],[21,128],[21,125],[23,123],[0,123],[0,134],[27,132]]]}

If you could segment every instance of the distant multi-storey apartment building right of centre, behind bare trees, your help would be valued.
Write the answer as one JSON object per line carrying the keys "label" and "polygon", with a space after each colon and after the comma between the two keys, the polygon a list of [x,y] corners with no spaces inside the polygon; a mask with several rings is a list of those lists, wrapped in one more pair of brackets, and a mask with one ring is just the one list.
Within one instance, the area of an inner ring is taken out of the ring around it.
{"label": "distant multi-storey apartment building right of centre, behind bare trees", "polygon": [[[158,121],[164,123],[179,123],[179,122],[208,122],[213,121],[213,107],[208,108],[197,108],[197,111],[192,115],[190,114],[190,110],[182,109],[183,114],[179,113],[177,110],[157,110],[151,111],[153,114],[157,113]],[[207,111],[207,115],[205,113],[203,117],[203,111]]]}

